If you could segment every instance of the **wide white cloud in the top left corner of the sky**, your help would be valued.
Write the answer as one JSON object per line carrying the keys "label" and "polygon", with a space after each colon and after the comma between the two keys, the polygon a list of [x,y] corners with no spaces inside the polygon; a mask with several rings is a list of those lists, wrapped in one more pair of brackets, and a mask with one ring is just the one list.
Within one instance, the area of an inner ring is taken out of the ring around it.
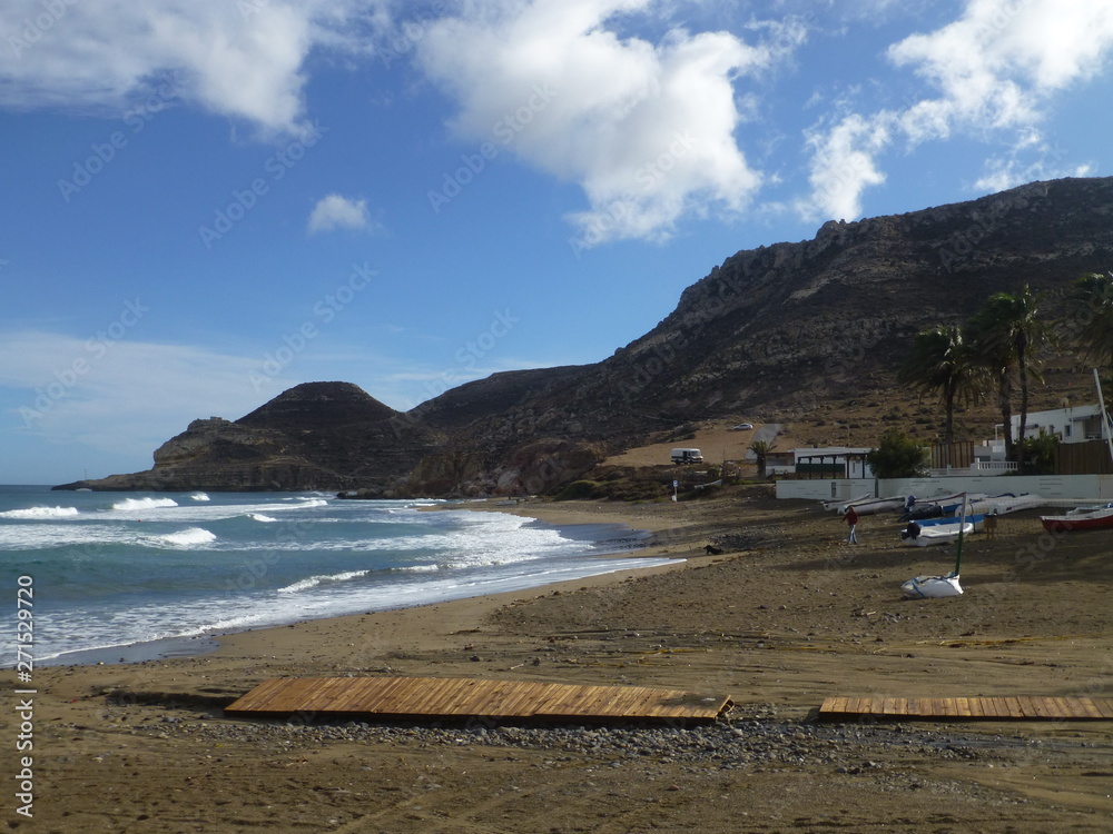
{"label": "wide white cloud in the top left corner of the sky", "polygon": [[358,48],[386,0],[8,0],[0,105],[126,107],[173,72],[183,101],[267,131],[302,117],[306,57]]}

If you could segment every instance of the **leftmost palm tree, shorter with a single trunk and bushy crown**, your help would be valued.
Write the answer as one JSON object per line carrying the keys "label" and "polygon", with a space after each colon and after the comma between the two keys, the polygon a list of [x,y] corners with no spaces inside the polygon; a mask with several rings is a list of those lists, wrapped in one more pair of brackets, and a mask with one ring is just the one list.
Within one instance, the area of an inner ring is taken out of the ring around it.
{"label": "leftmost palm tree, shorter with a single trunk and bushy crown", "polygon": [[897,381],[920,394],[939,393],[946,409],[943,441],[955,441],[955,405],[982,398],[985,371],[976,361],[962,327],[935,327],[913,337],[912,354],[897,371]]}

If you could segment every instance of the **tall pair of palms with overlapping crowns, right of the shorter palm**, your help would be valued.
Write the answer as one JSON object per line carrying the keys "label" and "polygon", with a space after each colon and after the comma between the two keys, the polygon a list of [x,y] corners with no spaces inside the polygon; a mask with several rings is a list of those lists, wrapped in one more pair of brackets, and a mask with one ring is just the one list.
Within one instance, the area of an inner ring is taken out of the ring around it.
{"label": "tall pair of palms with overlapping crowns, right of the shorter palm", "polygon": [[971,332],[981,363],[997,378],[997,397],[1005,430],[1005,454],[1024,470],[1024,446],[1013,438],[1013,380],[1021,385],[1021,437],[1028,419],[1028,380],[1038,379],[1035,351],[1054,344],[1051,327],[1038,317],[1042,292],[1025,284],[1018,292],[996,292],[986,299],[974,318]]}

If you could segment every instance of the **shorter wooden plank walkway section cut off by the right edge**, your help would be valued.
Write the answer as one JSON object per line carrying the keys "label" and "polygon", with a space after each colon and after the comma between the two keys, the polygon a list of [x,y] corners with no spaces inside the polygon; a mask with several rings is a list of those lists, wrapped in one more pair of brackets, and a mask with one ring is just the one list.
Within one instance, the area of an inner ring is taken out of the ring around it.
{"label": "shorter wooden plank walkway section cut off by the right edge", "polygon": [[1113,721],[1113,698],[827,698],[819,707],[820,719],[864,715],[975,721]]}

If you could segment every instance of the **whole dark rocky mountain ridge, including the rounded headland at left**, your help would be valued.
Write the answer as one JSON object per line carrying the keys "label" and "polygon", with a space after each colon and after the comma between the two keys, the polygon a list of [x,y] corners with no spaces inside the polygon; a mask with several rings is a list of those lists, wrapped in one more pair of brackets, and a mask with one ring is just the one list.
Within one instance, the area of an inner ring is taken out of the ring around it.
{"label": "whole dark rocky mountain ridge, including the rounded headland at left", "polygon": [[917,330],[1023,284],[1054,307],[1078,276],[1111,265],[1107,178],[830,221],[811,240],[731,256],[594,365],[496,374],[406,414],[355,386],[298,386],[235,423],[190,424],[148,473],[88,486],[539,492],[687,421],[792,420],[884,396]]}

